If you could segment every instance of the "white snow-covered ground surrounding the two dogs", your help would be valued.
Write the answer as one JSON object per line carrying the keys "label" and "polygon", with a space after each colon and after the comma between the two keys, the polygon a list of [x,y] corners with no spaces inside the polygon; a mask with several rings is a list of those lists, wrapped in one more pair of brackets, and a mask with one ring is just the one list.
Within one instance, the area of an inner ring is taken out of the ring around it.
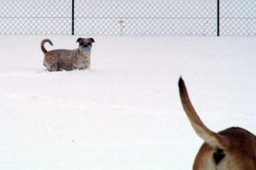
{"label": "white snow-covered ground surrounding the two dogs", "polygon": [[210,129],[256,134],[256,37],[94,36],[90,69],[47,72],[41,40],[78,37],[0,37],[0,169],[191,169],[180,75]]}

